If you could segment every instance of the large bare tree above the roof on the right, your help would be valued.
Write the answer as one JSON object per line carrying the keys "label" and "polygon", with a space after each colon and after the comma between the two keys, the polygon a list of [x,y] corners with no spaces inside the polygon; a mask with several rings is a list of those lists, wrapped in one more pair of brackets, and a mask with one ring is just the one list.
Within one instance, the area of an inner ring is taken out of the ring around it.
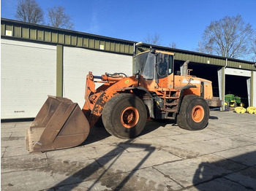
{"label": "large bare tree above the roof on the right", "polygon": [[252,26],[241,15],[212,21],[204,33],[200,50],[227,58],[243,58],[250,53]]}

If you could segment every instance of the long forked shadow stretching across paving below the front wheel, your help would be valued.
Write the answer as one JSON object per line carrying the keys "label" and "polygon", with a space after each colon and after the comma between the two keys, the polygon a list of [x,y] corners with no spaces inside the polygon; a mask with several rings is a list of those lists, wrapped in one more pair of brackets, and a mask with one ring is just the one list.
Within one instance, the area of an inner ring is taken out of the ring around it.
{"label": "long forked shadow stretching across paving below the front wheel", "polygon": [[[120,149],[120,147],[124,147],[124,144],[127,145],[127,147],[132,148],[140,148],[143,149],[143,151],[147,152],[146,156],[143,157],[143,159],[138,160],[137,165],[131,169],[128,174],[121,174],[121,171],[119,174],[112,174],[112,176],[108,176],[108,173],[111,171],[111,167],[116,163],[119,157],[123,154],[125,149]],[[86,165],[86,167],[80,169],[80,171],[77,171],[75,174],[72,174],[71,176],[67,177],[67,179],[64,179],[63,181],[59,182],[59,184],[54,185],[53,187],[50,187],[50,189],[54,190],[62,190],[62,187],[65,185],[68,185],[64,188],[64,190],[73,190],[75,187],[78,187],[78,185],[81,182],[84,182],[85,180],[89,179],[90,176],[93,174],[97,174],[96,180],[90,185],[87,190],[92,190],[95,186],[95,184],[102,181],[103,176],[108,176],[108,187],[111,188],[111,190],[120,190],[122,187],[124,187],[124,184],[126,184],[129,179],[132,178],[132,176],[136,173],[136,171],[140,168],[141,165],[148,159],[148,157],[154,152],[155,147],[151,147],[150,144],[134,144],[132,143],[132,139],[122,142],[117,145],[115,149],[112,149],[110,152],[108,152],[106,155],[103,155],[102,157],[99,157],[99,159],[95,160],[94,163],[90,163],[89,165]],[[101,165],[97,163],[97,161],[102,161]],[[104,168],[107,163],[110,163],[107,168]],[[116,177],[117,176],[117,177]]]}

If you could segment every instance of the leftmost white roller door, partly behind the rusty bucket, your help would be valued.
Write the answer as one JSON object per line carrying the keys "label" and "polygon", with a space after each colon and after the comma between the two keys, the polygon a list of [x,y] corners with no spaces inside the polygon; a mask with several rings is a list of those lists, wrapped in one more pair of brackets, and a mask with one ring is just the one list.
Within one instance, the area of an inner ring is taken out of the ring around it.
{"label": "leftmost white roller door, partly behind the rusty bucket", "polygon": [[1,119],[36,117],[56,95],[56,46],[1,39]]}

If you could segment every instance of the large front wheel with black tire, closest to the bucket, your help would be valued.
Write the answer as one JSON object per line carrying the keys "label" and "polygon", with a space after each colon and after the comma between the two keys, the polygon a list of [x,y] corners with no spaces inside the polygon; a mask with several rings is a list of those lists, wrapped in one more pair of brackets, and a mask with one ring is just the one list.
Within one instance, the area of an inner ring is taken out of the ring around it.
{"label": "large front wheel with black tire, closest to the bucket", "polygon": [[135,95],[121,93],[105,104],[102,122],[113,136],[130,139],[138,136],[147,121],[147,110],[143,101]]}

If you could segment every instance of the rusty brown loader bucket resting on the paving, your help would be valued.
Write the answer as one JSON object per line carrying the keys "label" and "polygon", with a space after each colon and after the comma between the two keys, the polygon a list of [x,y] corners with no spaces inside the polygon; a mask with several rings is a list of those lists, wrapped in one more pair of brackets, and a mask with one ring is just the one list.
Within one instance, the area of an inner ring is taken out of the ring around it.
{"label": "rusty brown loader bucket resting on the paving", "polygon": [[48,95],[26,131],[28,152],[75,147],[86,140],[90,125],[77,103]]}

